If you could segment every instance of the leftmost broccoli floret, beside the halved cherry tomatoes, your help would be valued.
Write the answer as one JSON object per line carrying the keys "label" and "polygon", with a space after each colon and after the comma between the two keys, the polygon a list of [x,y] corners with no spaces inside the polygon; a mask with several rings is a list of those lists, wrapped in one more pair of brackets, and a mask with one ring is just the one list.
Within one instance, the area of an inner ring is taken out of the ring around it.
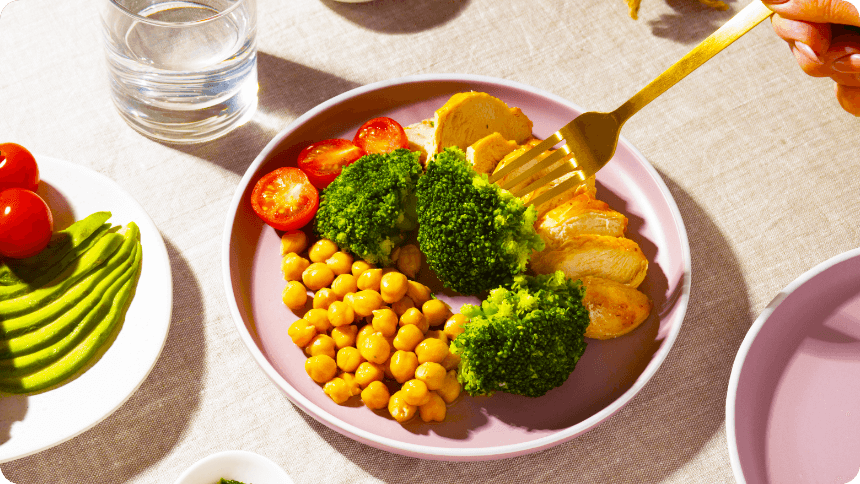
{"label": "leftmost broccoli floret, beside the halved cherry tomatoes", "polygon": [[422,172],[418,153],[406,149],[359,158],[320,194],[316,234],[368,262],[390,264],[391,251],[415,228]]}

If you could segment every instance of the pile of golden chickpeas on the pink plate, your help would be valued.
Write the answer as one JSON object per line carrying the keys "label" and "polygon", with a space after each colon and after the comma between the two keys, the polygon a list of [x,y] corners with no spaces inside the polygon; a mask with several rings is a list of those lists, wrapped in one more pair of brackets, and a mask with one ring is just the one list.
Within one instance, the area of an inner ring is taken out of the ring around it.
{"label": "pile of golden chickpeas on the pink plate", "polygon": [[405,245],[392,254],[396,268],[377,268],[331,240],[308,242],[301,231],[281,237],[283,301],[301,316],[289,335],[308,376],[338,404],[357,396],[400,423],[444,420],[461,390],[449,341],[466,319],[413,280],[418,248]]}

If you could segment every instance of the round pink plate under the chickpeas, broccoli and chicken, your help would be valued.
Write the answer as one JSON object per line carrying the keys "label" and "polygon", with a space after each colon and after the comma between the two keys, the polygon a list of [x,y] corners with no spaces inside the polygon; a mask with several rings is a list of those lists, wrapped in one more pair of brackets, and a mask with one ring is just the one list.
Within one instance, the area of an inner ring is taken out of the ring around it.
{"label": "round pink plate under the chickpeas, broccoli and chicken", "polygon": [[[237,329],[257,363],[290,400],[359,442],[439,460],[525,454],[572,439],[607,419],[642,389],[666,358],[689,298],[690,249],[678,208],[659,174],[622,139],[615,158],[597,176],[598,197],[629,217],[629,237],[651,261],[640,289],[653,299],[655,309],[640,328],[616,340],[590,340],[568,381],[541,398],[463,396],[449,406],[442,423],[401,425],[360,401],[345,406],[332,402],[305,374],[305,357],[287,335],[296,316],[281,302],[285,282],[279,234],[254,215],[248,196],[262,175],[294,165],[298,152],[313,141],[351,139],[364,121],[376,116],[406,126],[432,117],[451,95],[470,90],[521,108],[540,137],[582,112],[555,95],[488,77],[416,76],[354,89],[310,110],[266,146],[239,184],[223,240],[224,283]],[[455,310],[477,302],[440,297]]]}

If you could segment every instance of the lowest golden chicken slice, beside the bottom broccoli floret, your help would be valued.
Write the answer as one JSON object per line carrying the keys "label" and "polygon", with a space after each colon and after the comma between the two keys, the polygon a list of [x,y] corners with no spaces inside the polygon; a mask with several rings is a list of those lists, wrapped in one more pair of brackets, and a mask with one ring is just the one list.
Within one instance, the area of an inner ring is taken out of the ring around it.
{"label": "lowest golden chicken slice, beside the bottom broccoli floret", "polygon": [[593,276],[583,277],[582,285],[582,304],[591,320],[585,329],[586,338],[610,339],[627,334],[651,314],[651,300],[638,289]]}

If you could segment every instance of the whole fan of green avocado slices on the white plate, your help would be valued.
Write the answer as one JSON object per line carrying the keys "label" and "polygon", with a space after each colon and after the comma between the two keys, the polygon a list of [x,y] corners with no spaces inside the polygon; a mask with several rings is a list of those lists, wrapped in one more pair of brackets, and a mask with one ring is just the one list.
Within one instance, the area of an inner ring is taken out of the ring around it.
{"label": "whole fan of green avocado slices on the white plate", "polygon": [[19,281],[0,286],[16,294],[0,301],[0,390],[33,393],[67,380],[122,321],[140,271],[140,231],[133,222],[106,227],[109,217],[92,214],[58,232],[46,253],[3,267],[5,280]]}

